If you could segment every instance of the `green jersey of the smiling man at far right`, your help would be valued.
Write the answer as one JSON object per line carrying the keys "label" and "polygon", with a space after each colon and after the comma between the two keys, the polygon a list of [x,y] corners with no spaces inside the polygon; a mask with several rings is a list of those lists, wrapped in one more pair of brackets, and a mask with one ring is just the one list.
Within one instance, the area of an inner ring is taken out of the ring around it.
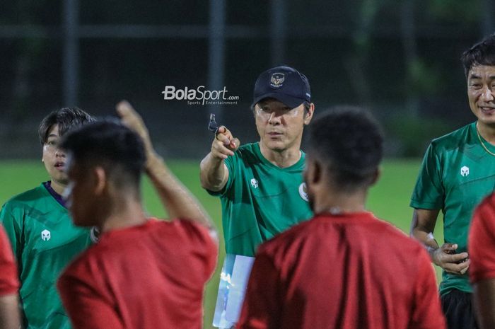
{"label": "green jersey of the smiling man at far right", "polygon": [[[483,140],[495,153],[495,146]],[[457,243],[457,253],[467,251],[467,236],[474,208],[494,192],[495,156],[480,144],[476,122],[433,139],[424,156],[414,187],[411,207],[441,209],[445,243]],[[472,292],[467,273],[443,271],[440,294],[452,289]]]}

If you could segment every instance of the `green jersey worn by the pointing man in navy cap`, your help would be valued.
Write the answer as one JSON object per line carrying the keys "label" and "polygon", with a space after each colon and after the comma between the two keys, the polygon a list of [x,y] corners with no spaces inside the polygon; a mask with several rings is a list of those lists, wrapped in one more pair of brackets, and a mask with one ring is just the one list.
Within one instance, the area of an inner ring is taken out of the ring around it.
{"label": "green jersey worn by the pointing man in navy cap", "polygon": [[310,219],[303,168],[305,154],[293,166],[279,168],[260,151],[260,144],[240,146],[225,164],[228,181],[219,192],[227,253],[254,256],[260,243]]}

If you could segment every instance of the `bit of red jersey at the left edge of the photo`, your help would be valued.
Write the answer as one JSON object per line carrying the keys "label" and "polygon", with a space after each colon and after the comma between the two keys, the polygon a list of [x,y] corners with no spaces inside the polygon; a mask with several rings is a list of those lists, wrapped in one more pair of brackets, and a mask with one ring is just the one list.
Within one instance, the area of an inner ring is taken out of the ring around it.
{"label": "bit of red jersey at the left edge of the photo", "polygon": [[19,279],[13,258],[11,243],[0,225],[0,296],[17,294]]}

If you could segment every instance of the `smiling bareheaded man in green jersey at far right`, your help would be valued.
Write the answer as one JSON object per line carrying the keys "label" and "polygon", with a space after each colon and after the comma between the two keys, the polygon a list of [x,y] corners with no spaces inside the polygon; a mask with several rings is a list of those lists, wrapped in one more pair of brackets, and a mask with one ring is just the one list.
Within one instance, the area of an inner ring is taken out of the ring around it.
{"label": "smiling bareheaded man in green jersey at far right", "polygon": [[[412,236],[443,268],[440,285],[448,328],[478,328],[472,311],[467,235],[474,207],[495,187],[495,35],[464,52],[467,98],[477,121],[433,139],[411,198]],[[443,212],[445,243],[433,229]]]}

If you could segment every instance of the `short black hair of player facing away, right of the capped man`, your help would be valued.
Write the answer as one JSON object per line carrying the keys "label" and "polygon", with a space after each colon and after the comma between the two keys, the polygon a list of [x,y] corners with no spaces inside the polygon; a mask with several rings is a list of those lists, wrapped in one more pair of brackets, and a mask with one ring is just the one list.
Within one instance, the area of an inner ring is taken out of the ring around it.
{"label": "short black hair of player facing away, right of the capped man", "polygon": [[310,123],[308,156],[322,161],[332,183],[352,192],[373,183],[383,157],[383,133],[367,110],[332,108]]}

